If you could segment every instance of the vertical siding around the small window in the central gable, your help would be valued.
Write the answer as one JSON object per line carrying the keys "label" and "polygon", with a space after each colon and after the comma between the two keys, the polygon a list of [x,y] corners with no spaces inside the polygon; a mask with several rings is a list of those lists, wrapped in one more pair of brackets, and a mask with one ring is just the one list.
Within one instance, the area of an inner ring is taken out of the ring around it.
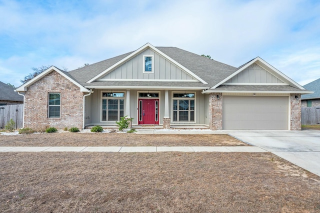
{"label": "vertical siding around the small window in the central gable", "polygon": [[[153,73],[143,72],[143,55],[153,55]],[[151,49],[142,51],[114,70],[111,70],[101,79],[195,80],[191,75]]]}

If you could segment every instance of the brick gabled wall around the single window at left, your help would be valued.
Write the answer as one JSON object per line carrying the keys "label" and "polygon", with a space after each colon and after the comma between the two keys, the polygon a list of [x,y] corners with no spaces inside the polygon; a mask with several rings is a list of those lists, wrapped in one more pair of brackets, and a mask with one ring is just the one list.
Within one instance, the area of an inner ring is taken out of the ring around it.
{"label": "brick gabled wall around the single window at left", "polygon": [[[48,93],[60,93],[60,117],[48,118]],[[27,88],[24,101],[24,127],[44,126],[82,128],[83,93],[71,81],[52,71]]]}

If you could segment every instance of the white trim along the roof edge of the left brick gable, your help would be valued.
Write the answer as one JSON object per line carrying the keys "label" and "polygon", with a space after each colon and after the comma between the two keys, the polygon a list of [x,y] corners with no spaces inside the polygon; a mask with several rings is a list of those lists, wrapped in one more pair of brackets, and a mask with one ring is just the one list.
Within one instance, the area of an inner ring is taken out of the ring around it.
{"label": "white trim along the roof edge of the left brick gable", "polygon": [[75,84],[76,86],[78,86],[80,88],[81,92],[89,92],[90,90],[85,88],[84,86],[82,86],[81,84],[79,84],[77,81],[73,80],[72,78],[70,78],[68,75],[66,75],[65,73],[63,73],[60,69],[56,68],[55,66],[50,66],[49,68],[47,68],[46,70],[44,70],[43,72],[41,72],[40,74],[36,75],[35,77],[33,77],[31,80],[27,81],[26,83],[22,84],[21,86],[17,87],[15,90],[16,91],[27,91],[27,87],[31,84],[33,84],[34,82],[38,81],[39,79],[41,79],[42,77],[44,77],[45,75],[47,75],[48,73],[52,72],[52,71],[56,71],[57,73],[59,73],[60,75],[62,75],[63,77],[65,77],[66,79],[68,79],[69,81],[71,81],[73,84]]}

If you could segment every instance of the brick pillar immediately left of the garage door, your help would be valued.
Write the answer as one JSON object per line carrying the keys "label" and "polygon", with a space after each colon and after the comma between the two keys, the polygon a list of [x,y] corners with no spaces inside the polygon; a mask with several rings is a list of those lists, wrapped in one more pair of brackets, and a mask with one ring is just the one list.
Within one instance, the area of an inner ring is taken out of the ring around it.
{"label": "brick pillar immediately left of the garage door", "polygon": [[[216,95],[219,95],[219,99]],[[222,129],[222,93],[209,94],[209,128]]]}

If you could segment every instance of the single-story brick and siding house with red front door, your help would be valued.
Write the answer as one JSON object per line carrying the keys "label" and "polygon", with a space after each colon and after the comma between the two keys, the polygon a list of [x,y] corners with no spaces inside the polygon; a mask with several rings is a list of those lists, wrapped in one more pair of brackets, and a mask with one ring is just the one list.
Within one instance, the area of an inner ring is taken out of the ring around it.
{"label": "single-story brick and siding house with red front door", "polygon": [[16,89],[24,126],[207,126],[301,129],[298,83],[256,57],[233,67],[176,47],[146,43],[69,72],[55,66]]}

